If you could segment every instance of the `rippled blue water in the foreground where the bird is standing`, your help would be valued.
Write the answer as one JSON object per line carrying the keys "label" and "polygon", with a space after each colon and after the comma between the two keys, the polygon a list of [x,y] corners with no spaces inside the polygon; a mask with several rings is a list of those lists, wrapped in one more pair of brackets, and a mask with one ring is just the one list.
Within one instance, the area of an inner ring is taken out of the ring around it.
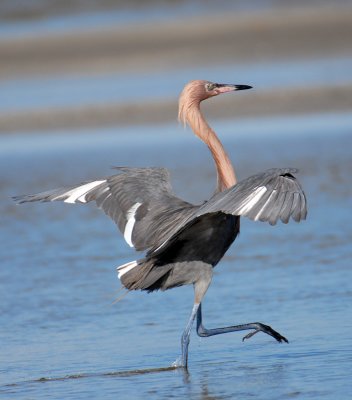
{"label": "rippled blue water in the foreground where the bird is standing", "polygon": [[192,332],[189,373],[169,369],[180,355],[192,288],[130,293],[113,304],[121,294],[115,267],[136,258],[114,224],[94,207],[9,199],[99,178],[111,165],[164,165],[176,193],[200,202],[214,188],[213,165],[189,132],[170,125],[2,137],[3,398],[350,398],[351,115],[214,126],[240,178],[298,167],[309,214],[276,227],[242,219],[240,237],[215,269],[204,324],[259,320],[290,343]]}

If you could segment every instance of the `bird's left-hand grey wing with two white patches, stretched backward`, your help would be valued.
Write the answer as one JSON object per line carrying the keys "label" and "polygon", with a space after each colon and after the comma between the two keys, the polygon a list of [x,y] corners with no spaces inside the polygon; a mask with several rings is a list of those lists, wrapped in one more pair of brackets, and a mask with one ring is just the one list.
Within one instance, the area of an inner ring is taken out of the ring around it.
{"label": "bird's left-hand grey wing with two white patches, stretched backward", "polygon": [[126,242],[145,250],[158,246],[174,224],[194,211],[194,206],[172,194],[164,168],[119,167],[119,174],[34,195],[16,196],[18,203],[95,201],[123,233]]}

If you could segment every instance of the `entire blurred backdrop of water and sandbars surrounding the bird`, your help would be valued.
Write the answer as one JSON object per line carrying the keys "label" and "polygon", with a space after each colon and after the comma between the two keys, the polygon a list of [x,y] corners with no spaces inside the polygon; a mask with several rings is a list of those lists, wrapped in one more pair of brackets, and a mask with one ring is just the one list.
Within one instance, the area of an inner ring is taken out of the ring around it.
{"label": "entire blurred backdrop of water and sandbars surrounding the bird", "polygon": [[[349,0],[0,1],[5,398],[349,398],[351,38]],[[301,224],[243,219],[205,325],[260,320],[290,344],[193,335],[189,375],[145,374],[179,356],[192,289],[112,305],[115,267],[136,259],[113,223],[11,196],[128,165],[165,166],[180,197],[209,198],[208,150],[177,124],[191,79],[254,87],[204,112],[240,179],[297,167],[309,205]]]}

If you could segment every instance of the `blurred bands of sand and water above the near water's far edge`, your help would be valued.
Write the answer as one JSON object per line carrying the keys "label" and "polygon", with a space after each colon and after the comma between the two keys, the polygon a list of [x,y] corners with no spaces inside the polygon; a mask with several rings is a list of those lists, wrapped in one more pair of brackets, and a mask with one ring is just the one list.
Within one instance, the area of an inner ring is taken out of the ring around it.
{"label": "blurred bands of sand and water above the near water's far edge", "polygon": [[2,0],[0,131],[174,121],[194,78],[255,87],[212,104],[218,118],[350,111],[351,7]]}

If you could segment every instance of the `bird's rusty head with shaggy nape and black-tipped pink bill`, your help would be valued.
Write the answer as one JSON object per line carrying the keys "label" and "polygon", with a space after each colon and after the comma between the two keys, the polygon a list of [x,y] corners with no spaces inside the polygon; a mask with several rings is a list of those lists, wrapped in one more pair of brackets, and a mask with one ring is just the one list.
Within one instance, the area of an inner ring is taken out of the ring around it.
{"label": "bird's rusty head with shaggy nape and black-tipped pink bill", "polygon": [[199,107],[201,101],[217,96],[222,93],[234,92],[236,90],[251,89],[248,85],[233,85],[227,83],[213,83],[204,80],[190,81],[183,88],[179,99],[178,118],[186,123],[187,114],[193,106]]}

